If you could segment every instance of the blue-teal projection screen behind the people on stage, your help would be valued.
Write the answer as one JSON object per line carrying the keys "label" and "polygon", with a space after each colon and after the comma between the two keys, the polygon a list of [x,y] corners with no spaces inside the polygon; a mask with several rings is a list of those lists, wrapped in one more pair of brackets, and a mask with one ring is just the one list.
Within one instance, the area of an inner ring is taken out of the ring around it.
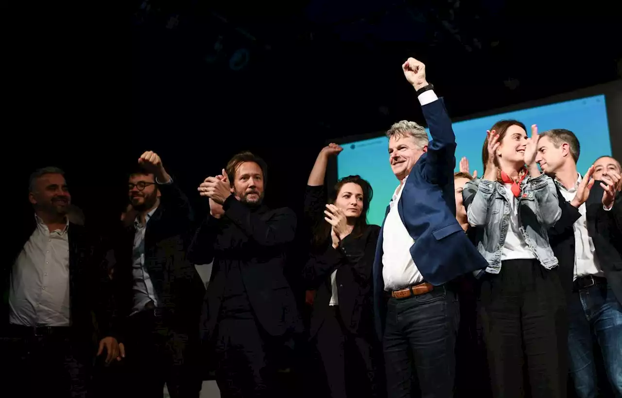
{"label": "blue-teal projection screen behind the people on stage", "polygon": [[[610,98],[605,94],[590,95],[455,122],[453,131],[458,144],[455,171],[458,171],[460,158],[466,156],[471,172],[478,170],[481,175],[481,147],[486,130],[501,119],[517,119],[526,126],[537,124],[539,131],[567,128],[575,132],[581,144],[578,170],[583,173],[597,157],[611,154],[610,123],[607,117],[608,108],[611,114],[611,106],[607,106],[608,101]],[[386,206],[399,183],[389,167],[388,140],[384,135],[376,134],[376,137],[369,139],[341,140],[340,144],[343,151],[337,157],[336,177],[358,174],[371,183],[374,197],[368,221],[371,224],[382,224]]]}

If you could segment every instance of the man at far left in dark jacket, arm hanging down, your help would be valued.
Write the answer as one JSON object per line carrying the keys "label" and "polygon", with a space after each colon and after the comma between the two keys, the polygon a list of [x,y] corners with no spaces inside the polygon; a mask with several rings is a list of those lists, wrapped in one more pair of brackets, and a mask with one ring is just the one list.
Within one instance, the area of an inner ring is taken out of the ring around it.
{"label": "man at far left in dark jacket, arm hanging down", "polygon": [[103,256],[98,238],[68,221],[62,170],[37,170],[29,192],[34,215],[11,228],[2,260],[2,389],[10,397],[85,397],[96,353],[108,363],[118,356]]}

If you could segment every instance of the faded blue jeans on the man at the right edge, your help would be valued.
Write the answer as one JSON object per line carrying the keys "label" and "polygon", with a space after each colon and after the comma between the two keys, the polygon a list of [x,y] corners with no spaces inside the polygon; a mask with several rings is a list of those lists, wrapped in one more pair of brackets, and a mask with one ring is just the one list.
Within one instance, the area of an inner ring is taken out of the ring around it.
{"label": "faded blue jeans on the man at the right edge", "polygon": [[[622,306],[602,282],[572,293],[569,302],[570,373],[579,398],[595,398],[598,376],[594,342],[600,346],[606,377],[616,397],[622,397]],[[605,375],[600,375],[605,377]]]}

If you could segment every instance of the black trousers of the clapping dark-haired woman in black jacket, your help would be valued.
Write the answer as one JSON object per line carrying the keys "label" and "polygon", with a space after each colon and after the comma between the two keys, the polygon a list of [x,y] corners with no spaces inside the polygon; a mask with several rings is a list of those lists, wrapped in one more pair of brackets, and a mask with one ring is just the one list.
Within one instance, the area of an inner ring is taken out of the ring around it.
{"label": "black trousers of the clapping dark-haired woman in black jacket", "polygon": [[337,306],[329,308],[315,338],[330,397],[386,395],[378,372],[379,343],[373,336],[350,333]]}

